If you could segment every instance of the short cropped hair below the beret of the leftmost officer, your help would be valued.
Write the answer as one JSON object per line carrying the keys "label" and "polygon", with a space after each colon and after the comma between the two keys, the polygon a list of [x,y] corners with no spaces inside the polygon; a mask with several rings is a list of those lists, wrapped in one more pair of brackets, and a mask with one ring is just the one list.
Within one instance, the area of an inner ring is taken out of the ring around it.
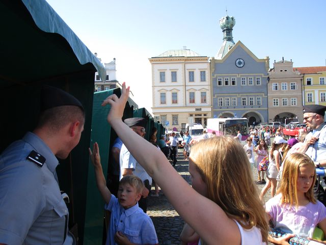
{"label": "short cropped hair below the beret of the leftmost officer", "polygon": [[85,113],[78,106],[52,107],[40,114],[37,128],[47,126],[52,132],[58,132],[73,120],[78,120],[80,126],[85,123]]}

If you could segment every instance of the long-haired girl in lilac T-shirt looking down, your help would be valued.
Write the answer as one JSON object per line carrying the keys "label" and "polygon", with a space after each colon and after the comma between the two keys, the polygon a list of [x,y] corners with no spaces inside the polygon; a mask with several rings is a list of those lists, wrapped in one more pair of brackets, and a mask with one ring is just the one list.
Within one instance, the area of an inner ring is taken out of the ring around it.
{"label": "long-haired girl in lilac T-shirt looking down", "polygon": [[[326,234],[326,207],[314,198],[315,181],[315,165],[306,154],[293,153],[285,159],[278,193],[265,204],[276,229],[307,238],[318,225]],[[284,238],[269,241],[282,244]]]}

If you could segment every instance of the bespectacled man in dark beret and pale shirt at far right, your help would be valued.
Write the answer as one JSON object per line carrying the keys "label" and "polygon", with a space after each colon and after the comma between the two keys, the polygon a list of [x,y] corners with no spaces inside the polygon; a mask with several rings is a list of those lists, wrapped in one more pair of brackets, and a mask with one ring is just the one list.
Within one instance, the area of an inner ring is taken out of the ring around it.
{"label": "bespectacled man in dark beret and pale shirt at far right", "polygon": [[[306,136],[300,152],[306,153],[316,167],[326,167],[326,123],[324,121],[326,107],[321,105],[304,106],[304,123],[311,132]],[[316,198],[326,204],[326,193],[320,186],[320,177],[315,185]],[[321,177],[322,178],[322,177]],[[322,180],[323,181],[323,180]]]}

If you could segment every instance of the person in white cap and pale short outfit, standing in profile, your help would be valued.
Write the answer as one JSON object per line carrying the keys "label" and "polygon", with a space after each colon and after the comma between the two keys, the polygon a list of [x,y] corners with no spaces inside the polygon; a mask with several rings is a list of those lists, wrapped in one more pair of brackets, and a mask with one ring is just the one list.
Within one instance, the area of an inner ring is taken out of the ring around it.
{"label": "person in white cap and pale short outfit, standing in profile", "polygon": [[271,188],[270,194],[271,197],[274,197],[277,187],[277,176],[280,171],[281,166],[281,154],[279,149],[283,146],[286,141],[283,137],[277,136],[275,137],[273,143],[271,144],[271,149],[269,152],[269,164],[266,170],[266,177],[267,181],[263,189],[260,193],[260,200],[263,200],[264,195],[266,194],[267,190]]}

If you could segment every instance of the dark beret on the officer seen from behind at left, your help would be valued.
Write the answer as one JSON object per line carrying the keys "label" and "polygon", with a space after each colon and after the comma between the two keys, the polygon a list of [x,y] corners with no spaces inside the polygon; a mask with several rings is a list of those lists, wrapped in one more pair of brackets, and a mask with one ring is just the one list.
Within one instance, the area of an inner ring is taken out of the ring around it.
{"label": "dark beret on the officer seen from behind at left", "polygon": [[57,106],[78,106],[84,111],[82,103],[71,94],[56,87],[43,86],[41,89],[41,111]]}

